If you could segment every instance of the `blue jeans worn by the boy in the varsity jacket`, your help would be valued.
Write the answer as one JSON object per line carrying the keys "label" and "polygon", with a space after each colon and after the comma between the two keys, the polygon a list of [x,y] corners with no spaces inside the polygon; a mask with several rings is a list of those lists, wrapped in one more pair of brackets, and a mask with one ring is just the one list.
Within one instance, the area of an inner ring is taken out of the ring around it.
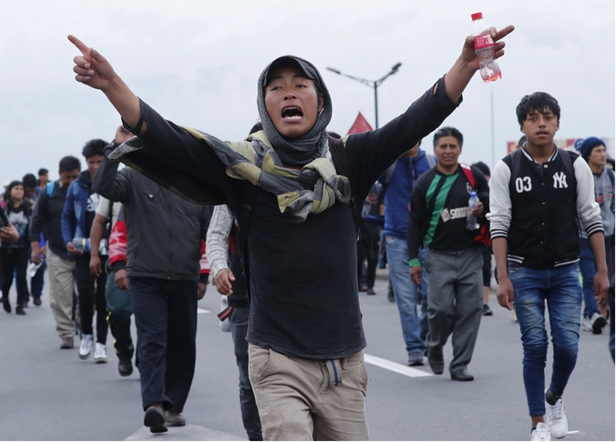
{"label": "blue jeans worn by the boy in the varsity jacket", "polygon": [[575,263],[539,270],[509,262],[509,278],[513,284],[516,315],[524,347],[523,377],[531,417],[543,416],[546,412],[546,301],[554,347],[549,391],[554,395],[560,396],[564,392],[578,358],[582,298],[578,268]]}

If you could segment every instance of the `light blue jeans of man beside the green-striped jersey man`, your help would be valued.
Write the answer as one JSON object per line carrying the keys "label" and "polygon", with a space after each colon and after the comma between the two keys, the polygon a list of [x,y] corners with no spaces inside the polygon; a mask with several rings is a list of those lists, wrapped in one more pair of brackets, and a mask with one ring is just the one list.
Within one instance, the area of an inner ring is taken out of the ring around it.
{"label": "light blue jeans of man beside the green-striped jersey man", "polygon": [[386,236],[387,263],[389,280],[394,287],[395,302],[400,312],[402,336],[406,343],[406,352],[426,349],[427,327],[427,272],[424,260],[426,248],[419,251],[419,261],[423,267],[421,280],[421,314],[417,316],[417,286],[408,273],[408,247],[406,239]]}

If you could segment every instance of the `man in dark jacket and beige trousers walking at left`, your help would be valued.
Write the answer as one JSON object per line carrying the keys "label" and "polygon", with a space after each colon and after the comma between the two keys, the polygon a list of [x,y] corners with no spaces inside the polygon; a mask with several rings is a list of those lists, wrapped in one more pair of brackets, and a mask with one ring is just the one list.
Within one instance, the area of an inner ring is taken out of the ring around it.
{"label": "man in dark jacket and beige trousers walking at left", "polygon": [[[46,257],[49,268],[49,305],[56,319],[56,331],[62,343],[60,348],[73,348],[75,325],[73,315],[73,286],[75,283],[75,258],[68,255],[62,239],[62,211],[67,199],[67,189],[77,179],[81,164],[75,156],[60,160],[60,179],[47,183],[38,194],[29,230],[32,247],[31,260],[39,264]],[[40,247],[44,233],[46,246]]]}

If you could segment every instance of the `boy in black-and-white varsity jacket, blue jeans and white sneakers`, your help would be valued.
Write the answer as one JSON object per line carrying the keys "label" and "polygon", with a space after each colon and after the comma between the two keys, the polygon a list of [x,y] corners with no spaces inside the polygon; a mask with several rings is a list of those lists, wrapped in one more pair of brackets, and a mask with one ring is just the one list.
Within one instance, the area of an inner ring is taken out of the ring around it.
{"label": "boy in black-and-white varsity jacket, blue jeans and white sneakers", "polygon": [[[515,299],[532,437],[549,437],[549,431],[560,438],[568,431],[562,394],[575,367],[580,339],[578,218],[596,259],[598,299],[606,296],[609,286],[603,225],[589,166],[553,143],[560,126],[558,102],[542,92],[526,95],[516,114],[527,142],[498,162],[490,190],[488,217],[498,266],[497,296],[498,303],[509,310]],[[546,300],[554,363],[544,392]]]}

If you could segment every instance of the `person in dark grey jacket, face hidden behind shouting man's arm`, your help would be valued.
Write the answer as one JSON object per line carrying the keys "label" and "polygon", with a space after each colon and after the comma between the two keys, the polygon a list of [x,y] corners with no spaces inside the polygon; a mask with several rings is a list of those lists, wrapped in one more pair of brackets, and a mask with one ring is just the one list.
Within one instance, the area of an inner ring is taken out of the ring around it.
{"label": "person in dark grey jacket, face hidden behind shouting man's arm", "polygon": [[211,208],[192,206],[128,167],[118,171],[108,154],[122,131],[106,147],[93,188],[125,207],[144,425],[160,433],[186,425],[180,413],[195,370],[197,300],[207,287],[200,279],[201,243]]}

